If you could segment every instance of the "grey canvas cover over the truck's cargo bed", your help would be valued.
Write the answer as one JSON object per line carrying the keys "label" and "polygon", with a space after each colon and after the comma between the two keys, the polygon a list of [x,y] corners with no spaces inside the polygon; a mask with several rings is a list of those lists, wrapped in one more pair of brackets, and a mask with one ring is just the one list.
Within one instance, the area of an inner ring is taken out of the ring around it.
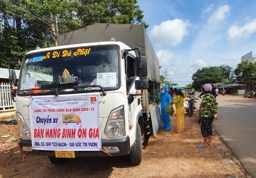
{"label": "grey canvas cover over the truck's cargo bed", "polygon": [[[96,23],[57,37],[58,46],[91,42],[106,42],[111,38],[131,48],[139,48],[141,56],[147,58],[147,78],[160,83],[159,60],[153,49],[144,25]],[[137,55],[137,51],[136,55]]]}

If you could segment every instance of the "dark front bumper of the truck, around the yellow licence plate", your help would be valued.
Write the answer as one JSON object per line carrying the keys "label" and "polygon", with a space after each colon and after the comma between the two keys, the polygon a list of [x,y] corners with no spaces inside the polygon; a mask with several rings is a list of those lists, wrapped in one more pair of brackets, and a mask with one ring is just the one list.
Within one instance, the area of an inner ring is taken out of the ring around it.
{"label": "dark front bumper of the truck, around the yellow licence plate", "polygon": [[[31,140],[22,140],[20,139],[19,148],[22,150],[23,146],[31,146]],[[104,146],[117,146],[119,151],[105,151],[111,156],[123,156],[130,153],[130,138],[129,136],[125,138],[115,139],[115,140],[102,140],[102,147]],[[103,150],[103,148],[102,148]],[[86,156],[110,156],[106,154],[104,151],[75,151],[76,157],[86,157]],[[37,156],[55,156],[54,151],[52,150],[31,150],[31,151],[24,151],[25,154],[28,155],[37,155]]]}

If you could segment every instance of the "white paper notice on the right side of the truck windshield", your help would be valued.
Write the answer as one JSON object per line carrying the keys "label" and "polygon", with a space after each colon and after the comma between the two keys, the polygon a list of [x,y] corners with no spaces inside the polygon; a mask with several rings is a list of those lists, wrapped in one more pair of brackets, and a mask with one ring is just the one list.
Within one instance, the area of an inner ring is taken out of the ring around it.
{"label": "white paper notice on the right side of the truck windshield", "polygon": [[97,73],[97,85],[102,87],[116,87],[117,86],[117,73]]}

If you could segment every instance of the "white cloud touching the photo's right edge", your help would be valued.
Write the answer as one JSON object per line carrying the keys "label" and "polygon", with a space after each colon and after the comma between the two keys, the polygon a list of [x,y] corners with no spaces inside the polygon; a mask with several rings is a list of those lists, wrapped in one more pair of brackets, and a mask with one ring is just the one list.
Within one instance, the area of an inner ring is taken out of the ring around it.
{"label": "white cloud touching the photo's right edge", "polygon": [[256,18],[242,27],[232,25],[228,30],[228,38],[249,38],[252,33],[256,32]]}

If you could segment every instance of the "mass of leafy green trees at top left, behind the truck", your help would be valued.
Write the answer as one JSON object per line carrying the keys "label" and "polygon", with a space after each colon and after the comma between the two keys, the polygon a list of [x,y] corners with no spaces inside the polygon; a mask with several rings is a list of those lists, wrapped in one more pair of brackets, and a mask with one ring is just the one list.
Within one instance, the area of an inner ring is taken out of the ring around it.
{"label": "mass of leafy green trees at top left, behind the truck", "polygon": [[[21,60],[24,53],[53,46],[49,13],[58,19],[59,34],[94,23],[147,25],[137,0],[1,0],[0,67]],[[3,22],[3,23],[2,23]]]}

